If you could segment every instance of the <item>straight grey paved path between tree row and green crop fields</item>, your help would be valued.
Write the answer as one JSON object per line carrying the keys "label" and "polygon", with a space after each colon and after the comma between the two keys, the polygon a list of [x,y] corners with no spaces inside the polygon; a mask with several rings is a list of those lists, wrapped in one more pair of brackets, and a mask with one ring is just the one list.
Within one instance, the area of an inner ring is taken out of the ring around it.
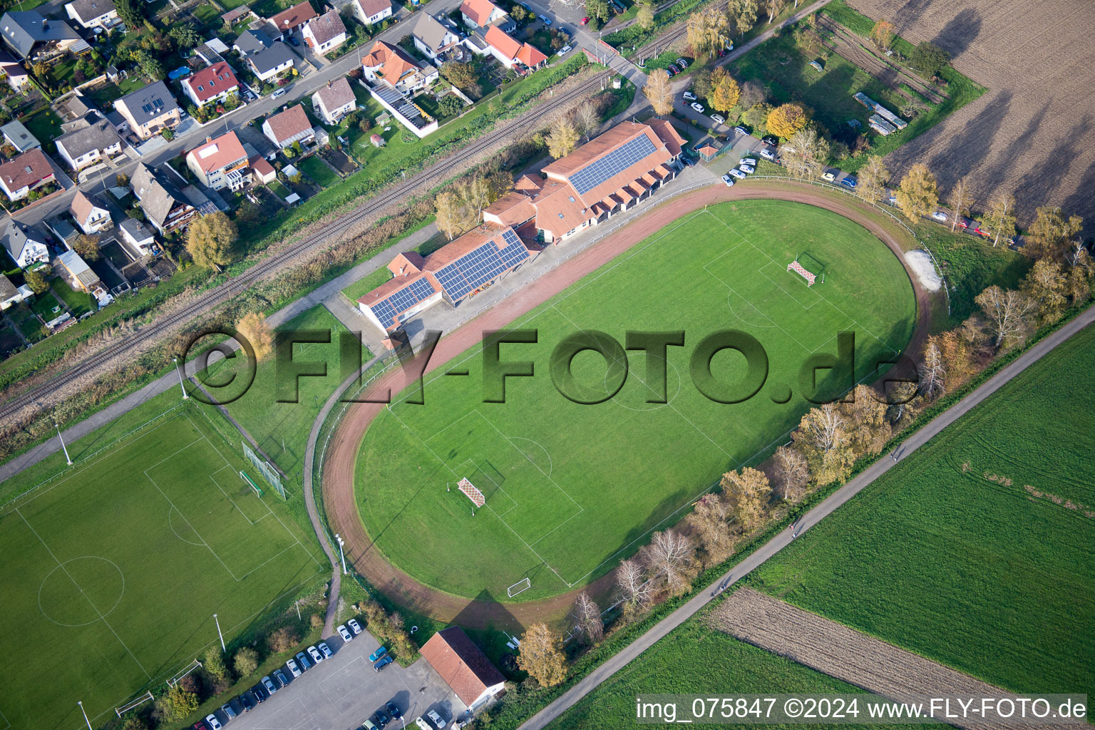
{"label": "straight grey paved path between tree row and green crop fields", "polygon": [[[1095,306],[1088,308],[1075,320],[1069,322],[1053,334],[1037,343],[1029,350],[1016,358],[1014,362],[990,378],[976,391],[933,418],[920,430],[906,439],[896,451],[900,453],[901,459],[903,459],[920,447],[924,445],[932,439],[932,437],[936,436],[947,426],[969,413],[969,410],[976,405],[995,393],[1013,378],[1041,359],[1047,352],[1090,325],[1092,322],[1095,322]],[[793,528],[797,530],[797,534],[802,534],[804,531],[809,530],[811,526],[831,514],[838,507],[846,502],[872,482],[888,472],[896,463],[897,462],[892,459],[884,456],[864,470],[854,479],[834,491],[804,517],[799,518],[799,520],[793,525]],[[726,575],[722,576],[711,586],[701,590],[688,603],[669,614],[667,617],[662,618],[646,634],[643,634],[641,637],[635,639],[635,641],[620,651],[620,653],[615,654],[590,672],[589,675],[570,687],[570,690],[564,693],[558,699],[540,710],[540,712],[525,722],[520,730],[539,730],[540,728],[545,728],[552,720],[557,718],[575,703],[592,692],[598,685],[626,667],[632,660],[637,658],[648,648],[654,646],[658,639],[680,626],[688,618],[695,615],[700,609],[714,600],[716,589],[719,584],[725,581],[726,588],[733,586],[783,549],[788,543],[791,543],[791,529],[788,528],[769,542],[764,543],[764,545],[762,545],[756,553],[734,566],[734,568],[731,568]]]}

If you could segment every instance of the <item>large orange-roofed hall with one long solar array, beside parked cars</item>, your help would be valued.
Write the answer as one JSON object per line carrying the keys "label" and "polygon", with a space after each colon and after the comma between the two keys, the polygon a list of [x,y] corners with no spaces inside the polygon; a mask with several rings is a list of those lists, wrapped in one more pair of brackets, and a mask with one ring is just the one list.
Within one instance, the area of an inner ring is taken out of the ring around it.
{"label": "large orange-roofed hall with one long solar array, beside parked cars", "polygon": [[541,243],[560,243],[648,199],[677,176],[683,137],[665,119],[624,121],[543,169],[483,211]]}

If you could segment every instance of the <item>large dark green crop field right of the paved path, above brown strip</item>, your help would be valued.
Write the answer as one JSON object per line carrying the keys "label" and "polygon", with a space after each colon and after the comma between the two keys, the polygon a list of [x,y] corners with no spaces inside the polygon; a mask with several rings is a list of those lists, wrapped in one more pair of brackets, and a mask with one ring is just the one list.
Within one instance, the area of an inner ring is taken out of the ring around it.
{"label": "large dark green crop field right of the paved path, above brown strip", "polygon": [[1095,691],[1088,327],[783,549],[757,587],[1016,692]]}

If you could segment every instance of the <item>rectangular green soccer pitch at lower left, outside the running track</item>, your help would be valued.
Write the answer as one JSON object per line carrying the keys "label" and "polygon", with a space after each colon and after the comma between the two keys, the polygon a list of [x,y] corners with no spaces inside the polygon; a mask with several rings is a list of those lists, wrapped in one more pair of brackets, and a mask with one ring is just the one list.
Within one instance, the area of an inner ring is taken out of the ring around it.
{"label": "rectangular green soccer pitch at lower left, outside the running track", "polygon": [[[136,426],[136,424],[135,424]],[[96,725],[326,572],[196,406],[173,408],[0,512],[0,730]]]}

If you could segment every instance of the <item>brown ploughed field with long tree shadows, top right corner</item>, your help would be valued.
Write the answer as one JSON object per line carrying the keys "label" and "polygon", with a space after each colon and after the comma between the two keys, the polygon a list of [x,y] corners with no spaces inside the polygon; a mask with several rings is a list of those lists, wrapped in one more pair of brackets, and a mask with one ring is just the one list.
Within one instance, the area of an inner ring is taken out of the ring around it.
{"label": "brown ploughed field with long tree shadows, top right corner", "polygon": [[1061,206],[1095,230],[1095,7],[1075,0],[849,0],[911,43],[931,40],[989,91],[887,158],[895,177],[924,162],[950,190],[969,176],[975,209],[1013,193],[1021,223]]}

